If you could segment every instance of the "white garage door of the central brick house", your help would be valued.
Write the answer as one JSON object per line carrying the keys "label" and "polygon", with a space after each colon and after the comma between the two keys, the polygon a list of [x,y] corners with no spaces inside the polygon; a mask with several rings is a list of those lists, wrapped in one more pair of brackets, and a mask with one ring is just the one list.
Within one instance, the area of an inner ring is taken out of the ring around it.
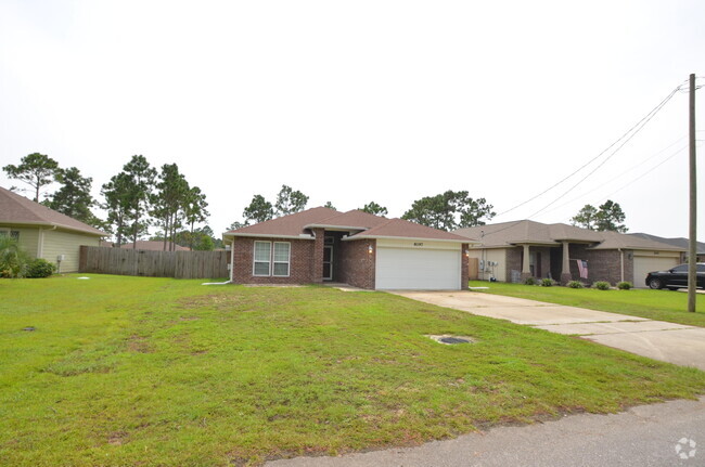
{"label": "white garage door of the central brick house", "polygon": [[375,288],[459,290],[458,250],[377,248]]}

